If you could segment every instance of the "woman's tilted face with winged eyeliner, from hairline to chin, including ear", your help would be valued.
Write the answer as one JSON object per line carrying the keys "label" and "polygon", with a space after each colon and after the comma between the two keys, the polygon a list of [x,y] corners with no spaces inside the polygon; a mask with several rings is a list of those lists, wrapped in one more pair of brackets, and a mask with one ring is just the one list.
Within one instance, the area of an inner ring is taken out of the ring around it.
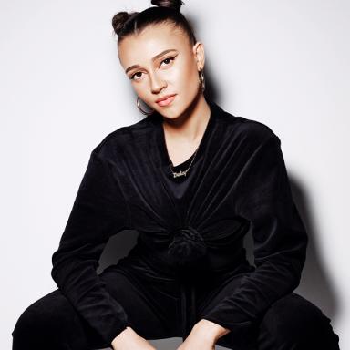
{"label": "woman's tilted face with winged eyeliner, from hairline to chin, including ear", "polygon": [[[179,27],[148,26],[126,36],[118,44],[118,57],[139,98],[166,118],[180,116],[201,93],[204,48],[200,42],[190,46]],[[174,97],[158,102],[168,95]]]}

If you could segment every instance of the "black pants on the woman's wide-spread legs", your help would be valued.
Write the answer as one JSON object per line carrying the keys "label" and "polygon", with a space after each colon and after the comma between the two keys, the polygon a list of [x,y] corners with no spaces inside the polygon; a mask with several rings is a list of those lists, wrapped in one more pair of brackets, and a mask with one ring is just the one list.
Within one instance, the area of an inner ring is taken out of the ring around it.
{"label": "black pants on the woman's wide-spread legs", "polygon": [[[149,340],[180,337],[179,290],[158,273],[145,273],[144,266],[138,266],[140,262],[132,268],[125,262],[126,258],[121,259],[99,277],[123,305],[132,328]],[[242,274],[229,282],[203,285],[197,298],[198,318],[231,293],[240,278]],[[249,338],[238,341],[229,333],[217,345],[234,350],[338,350],[339,337],[330,321],[316,305],[290,293],[269,308]],[[18,318],[12,335],[13,350],[88,350],[110,346],[101,341],[58,289],[29,305]]]}

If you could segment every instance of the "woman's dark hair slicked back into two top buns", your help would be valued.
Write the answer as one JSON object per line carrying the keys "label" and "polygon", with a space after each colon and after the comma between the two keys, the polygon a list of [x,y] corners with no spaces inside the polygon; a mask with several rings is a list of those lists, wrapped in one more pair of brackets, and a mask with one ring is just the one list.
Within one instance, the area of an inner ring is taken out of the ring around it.
{"label": "woman's dark hair slicked back into two top buns", "polygon": [[149,25],[160,23],[173,23],[179,26],[187,34],[190,44],[196,43],[193,28],[186,17],[180,13],[181,0],[151,0],[151,6],[142,12],[121,11],[112,18],[112,26],[118,36],[118,42],[130,34],[138,34]]}

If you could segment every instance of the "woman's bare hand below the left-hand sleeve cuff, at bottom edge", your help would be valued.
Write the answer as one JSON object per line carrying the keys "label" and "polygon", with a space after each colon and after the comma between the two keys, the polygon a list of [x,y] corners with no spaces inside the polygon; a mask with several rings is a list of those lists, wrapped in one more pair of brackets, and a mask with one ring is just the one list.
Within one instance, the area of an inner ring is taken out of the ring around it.
{"label": "woman's bare hand below the left-hand sleeve cuff, at bottom edge", "polygon": [[120,332],[112,341],[114,350],[156,350],[145,338],[139,336],[131,327]]}

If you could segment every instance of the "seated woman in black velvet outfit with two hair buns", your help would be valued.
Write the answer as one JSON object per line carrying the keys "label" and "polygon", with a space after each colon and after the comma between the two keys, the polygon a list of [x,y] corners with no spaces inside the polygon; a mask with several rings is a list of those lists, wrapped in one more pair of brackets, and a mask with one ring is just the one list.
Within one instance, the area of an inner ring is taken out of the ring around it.
{"label": "seated woman in black velvet outfit with two hair buns", "polygon": [[[147,117],[91,152],[52,257],[58,289],[20,316],[13,349],[148,350],[172,336],[178,350],[339,349],[330,319],[293,293],[307,235],[280,139],[204,96],[204,47],[182,3],[152,4],[112,22]],[[136,246],[98,275],[124,229]]]}

